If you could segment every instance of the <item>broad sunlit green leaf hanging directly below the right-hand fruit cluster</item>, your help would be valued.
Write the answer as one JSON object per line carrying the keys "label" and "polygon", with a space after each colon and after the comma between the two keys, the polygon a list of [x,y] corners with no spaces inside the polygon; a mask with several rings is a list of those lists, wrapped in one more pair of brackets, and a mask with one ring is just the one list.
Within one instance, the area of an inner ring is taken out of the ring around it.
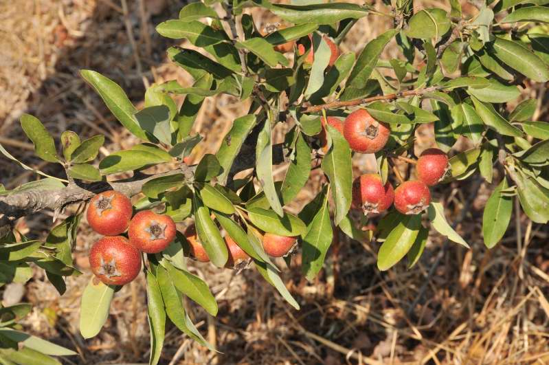
{"label": "broad sunlit green leaf hanging directly below the right-hand fruit cluster", "polygon": [[391,230],[377,254],[377,267],[385,271],[407,254],[421,228],[421,214],[399,214],[399,223]]}

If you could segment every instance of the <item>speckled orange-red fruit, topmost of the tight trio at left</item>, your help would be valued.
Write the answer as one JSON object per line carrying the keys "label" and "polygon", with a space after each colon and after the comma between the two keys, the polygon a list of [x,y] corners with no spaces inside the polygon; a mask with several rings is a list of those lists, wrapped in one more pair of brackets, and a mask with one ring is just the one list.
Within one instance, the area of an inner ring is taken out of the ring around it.
{"label": "speckled orange-red fruit, topmost of the tight trio at left", "polygon": [[121,234],[130,224],[131,201],[126,195],[104,191],[89,201],[86,217],[90,227],[104,236]]}

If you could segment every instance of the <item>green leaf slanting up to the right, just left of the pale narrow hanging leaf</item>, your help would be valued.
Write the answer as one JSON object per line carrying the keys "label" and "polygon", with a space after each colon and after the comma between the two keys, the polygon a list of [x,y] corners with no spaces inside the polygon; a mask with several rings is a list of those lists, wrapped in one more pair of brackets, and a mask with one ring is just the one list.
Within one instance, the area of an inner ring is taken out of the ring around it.
{"label": "green leaf slanting up to the right, just left of the pale narrow hanging leaf", "polygon": [[225,182],[227,180],[234,159],[240,152],[240,148],[254,125],[256,125],[256,116],[253,114],[236,118],[231,130],[223,137],[223,142],[221,142],[221,146],[216,153],[219,164],[223,168],[223,173],[218,178],[219,181]]}

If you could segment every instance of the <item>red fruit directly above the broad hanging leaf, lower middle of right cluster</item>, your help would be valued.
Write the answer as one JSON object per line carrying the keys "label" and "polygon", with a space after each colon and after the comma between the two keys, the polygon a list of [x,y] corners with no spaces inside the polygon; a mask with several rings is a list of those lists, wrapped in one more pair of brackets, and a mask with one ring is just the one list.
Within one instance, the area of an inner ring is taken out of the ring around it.
{"label": "red fruit directly above the broad hanging leaf, lower middle of right cluster", "polygon": [[404,181],[394,190],[394,207],[402,214],[418,214],[429,207],[431,193],[422,181]]}

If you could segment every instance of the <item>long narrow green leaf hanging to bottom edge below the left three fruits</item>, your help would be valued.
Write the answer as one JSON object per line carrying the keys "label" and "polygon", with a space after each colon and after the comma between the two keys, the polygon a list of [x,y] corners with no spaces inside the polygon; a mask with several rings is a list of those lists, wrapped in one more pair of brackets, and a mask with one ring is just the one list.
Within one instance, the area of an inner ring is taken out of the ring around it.
{"label": "long narrow green leaf hanging to bottom edge below the left three fruits", "polygon": [[150,329],[150,357],[148,363],[156,365],[160,361],[164,335],[166,333],[166,312],[156,277],[147,270],[147,318]]}

